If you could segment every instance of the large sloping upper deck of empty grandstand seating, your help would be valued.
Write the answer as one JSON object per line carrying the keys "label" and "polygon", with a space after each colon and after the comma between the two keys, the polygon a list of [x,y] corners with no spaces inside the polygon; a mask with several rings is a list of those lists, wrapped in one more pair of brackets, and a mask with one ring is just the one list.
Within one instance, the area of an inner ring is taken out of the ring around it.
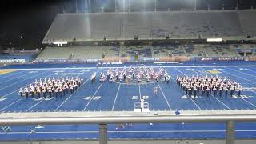
{"label": "large sloping upper deck of empty grandstand seating", "polygon": [[255,11],[58,14],[43,43],[56,40],[242,37],[256,34]]}

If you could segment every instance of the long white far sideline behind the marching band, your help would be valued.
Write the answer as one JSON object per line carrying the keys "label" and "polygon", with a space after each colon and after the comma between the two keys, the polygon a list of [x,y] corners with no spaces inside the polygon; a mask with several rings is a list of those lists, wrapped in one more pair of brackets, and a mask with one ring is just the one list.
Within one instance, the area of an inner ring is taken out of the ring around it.
{"label": "long white far sideline behind the marching band", "polygon": [[[120,68],[123,66],[108,66],[108,67],[98,67],[99,69],[110,69],[110,68]],[[244,65],[232,65],[232,66],[152,66],[152,67],[256,67],[256,65],[248,65],[248,66],[244,66]],[[97,69],[97,67],[74,67],[74,68],[34,68],[34,69],[13,69],[13,70],[71,70],[71,69],[76,69],[76,70],[91,70],[91,69]]]}

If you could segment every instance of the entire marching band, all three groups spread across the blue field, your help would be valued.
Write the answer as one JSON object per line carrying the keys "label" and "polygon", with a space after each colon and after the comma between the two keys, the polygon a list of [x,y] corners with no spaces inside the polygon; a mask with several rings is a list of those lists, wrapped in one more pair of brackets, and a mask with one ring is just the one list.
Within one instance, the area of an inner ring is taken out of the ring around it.
{"label": "entire marching band, all three groups spread across the blue field", "polygon": [[[123,67],[123,68],[116,68],[115,70],[110,68],[107,70],[106,74],[103,72],[100,74],[99,81],[105,82],[108,80],[109,82],[150,82],[155,81],[158,82],[161,79],[169,84],[170,82],[170,74],[166,72],[162,67],[158,70],[154,70],[153,67],[146,67],[146,66],[137,66],[137,67]],[[90,77],[91,83],[96,81],[96,72],[91,75]],[[234,94],[241,95],[242,86],[235,81],[231,81],[227,78],[221,78],[219,76],[192,76],[192,77],[185,77],[185,76],[177,76],[176,82],[178,86],[181,87],[182,90],[188,94],[189,97],[200,96],[203,97],[206,95],[209,97],[217,96],[220,97],[222,95],[227,96],[230,94],[232,97]],[[35,80],[30,86],[25,86],[22,90],[20,88],[19,94],[21,98],[24,96],[26,98],[34,98],[35,95],[38,95],[38,98],[46,98],[53,96],[55,97],[62,97],[66,94],[73,94],[78,87],[82,86],[83,78],[79,77],[66,77],[66,78],[46,78],[42,81],[41,78],[39,81]],[[158,87],[154,87],[154,95],[157,94]]]}

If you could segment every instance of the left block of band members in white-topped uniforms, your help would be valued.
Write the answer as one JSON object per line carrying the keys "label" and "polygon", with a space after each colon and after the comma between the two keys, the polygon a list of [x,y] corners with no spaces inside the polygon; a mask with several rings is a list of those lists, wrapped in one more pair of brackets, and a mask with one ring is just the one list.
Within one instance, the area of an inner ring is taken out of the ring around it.
{"label": "left block of band members in white-topped uniforms", "polygon": [[76,90],[78,90],[78,87],[82,86],[83,84],[83,78],[78,77],[66,77],[66,78],[46,78],[42,81],[41,78],[39,81],[37,79],[30,84],[30,86],[25,86],[25,88],[22,90],[20,88],[19,94],[21,98],[25,96],[26,98],[34,98],[35,95],[38,95],[38,98],[46,98],[49,96],[52,98],[52,96],[55,97],[62,97],[66,94],[73,94]]}

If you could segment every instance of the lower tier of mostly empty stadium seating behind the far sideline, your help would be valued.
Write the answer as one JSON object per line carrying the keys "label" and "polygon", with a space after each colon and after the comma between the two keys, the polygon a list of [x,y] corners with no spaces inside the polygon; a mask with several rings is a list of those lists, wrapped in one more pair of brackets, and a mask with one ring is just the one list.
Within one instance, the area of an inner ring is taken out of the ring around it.
{"label": "lower tier of mostly empty stadium seating behind the far sideline", "polygon": [[[46,47],[39,59],[98,59],[105,54],[106,62],[118,59],[134,58],[138,53],[140,58],[167,57],[238,57],[239,51],[255,50],[256,45],[158,45],[158,46],[65,46]],[[170,54],[170,55],[169,55]],[[242,55],[243,56],[243,55]],[[1,57],[0,57],[1,58]]]}

